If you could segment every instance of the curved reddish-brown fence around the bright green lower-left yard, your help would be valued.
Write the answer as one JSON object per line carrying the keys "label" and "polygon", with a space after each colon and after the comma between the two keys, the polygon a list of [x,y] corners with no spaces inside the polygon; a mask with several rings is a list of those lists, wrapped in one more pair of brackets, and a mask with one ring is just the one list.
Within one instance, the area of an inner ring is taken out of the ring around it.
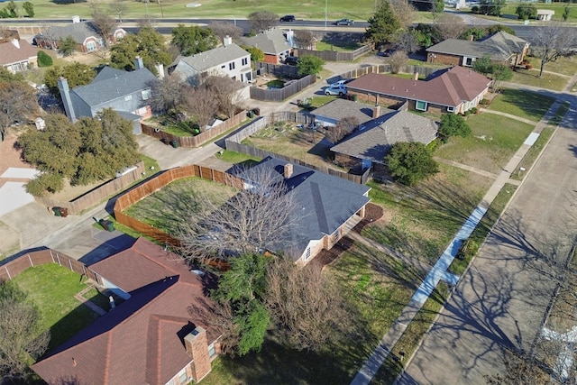
{"label": "curved reddish-brown fence around the bright green lower-left yard", "polygon": [[12,280],[15,276],[23,272],[23,270],[46,263],[58,263],[62,267],[78,272],[78,274],[84,274],[87,278],[97,281],[96,273],[88,269],[81,261],[77,261],[61,252],[45,249],[28,252],[18,258],[0,262],[0,282]]}

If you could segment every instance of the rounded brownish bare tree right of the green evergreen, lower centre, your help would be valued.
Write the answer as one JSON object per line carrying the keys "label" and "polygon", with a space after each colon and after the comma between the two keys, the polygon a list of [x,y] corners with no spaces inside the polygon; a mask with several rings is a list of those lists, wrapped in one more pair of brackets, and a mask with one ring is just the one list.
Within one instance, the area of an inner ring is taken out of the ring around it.
{"label": "rounded brownish bare tree right of the green evergreen, lower centre", "polygon": [[300,268],[286,258],[267,265],[265,300],[282,335],[298,350],[316,351],[334,343],[353,323],[334,281],[318,267]]}

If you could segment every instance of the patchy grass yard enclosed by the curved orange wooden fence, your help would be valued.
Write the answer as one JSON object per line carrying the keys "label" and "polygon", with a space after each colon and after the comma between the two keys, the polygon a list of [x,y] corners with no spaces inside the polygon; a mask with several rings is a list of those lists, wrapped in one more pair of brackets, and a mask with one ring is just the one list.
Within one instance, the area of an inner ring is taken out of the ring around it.
{"label": "patchy grass yard enclosed by the curved orange wooden fence", "polygon": [[204,199],[210,199],[219,206],[234,194],[234,188],[207,179],[180,179],[128,207],[124,214],[153,225],[167,234],[178,234],[183,220],[202,211]]}

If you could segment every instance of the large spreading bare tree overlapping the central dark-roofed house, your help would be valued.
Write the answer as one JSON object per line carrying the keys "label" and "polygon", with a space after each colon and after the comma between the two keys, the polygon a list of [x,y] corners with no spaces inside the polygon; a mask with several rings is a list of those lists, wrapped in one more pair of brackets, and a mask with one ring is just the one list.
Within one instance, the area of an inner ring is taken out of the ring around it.
{"label": "large spreading bare tree overlapping the central dark-roofed house", "polygon": [[276,170],[239,170],[244,188],[222,206],[205,199],[199,213],[183,222],[179,239],[189,259],[203,263],[231,255],[289,250],[296,203]]}

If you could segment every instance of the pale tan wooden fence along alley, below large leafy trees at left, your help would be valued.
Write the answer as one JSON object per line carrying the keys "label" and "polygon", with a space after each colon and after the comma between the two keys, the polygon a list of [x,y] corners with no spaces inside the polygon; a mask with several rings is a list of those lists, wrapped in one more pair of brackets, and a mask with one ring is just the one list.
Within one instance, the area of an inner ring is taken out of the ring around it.
{"label": "pale tan wooden fence along alley, below large leafy trees at left", "polygon": [[118,178],[109,180],[105,184],[100,185],[69,202],[57,201],[51,197],[40,197],[39,200],[46,206],[66,207],[68,208],[69,214],[78,215],[87,208],[95,206],[107,197],[113,196],[118,191],[127,188],[135,181],[141,179],[144,171],[144,162],[140,161],[136,164],[136,169],[131,170]]}

